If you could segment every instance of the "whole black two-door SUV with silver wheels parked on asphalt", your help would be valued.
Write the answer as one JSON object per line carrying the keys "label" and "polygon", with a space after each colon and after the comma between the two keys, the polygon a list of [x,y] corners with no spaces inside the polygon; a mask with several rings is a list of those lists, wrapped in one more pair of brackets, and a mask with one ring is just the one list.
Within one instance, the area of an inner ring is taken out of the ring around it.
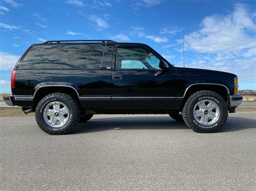
{"label": "whole black two-door SUV with silver wheels parked on asphalt", "polygon": [[51,135],[95,114],[169,114],[196,132],[215,132],[242,101],[238,78],[174,67],[145,44],[53,40],[34,44],[11,75],[6,104],[35,112]]}

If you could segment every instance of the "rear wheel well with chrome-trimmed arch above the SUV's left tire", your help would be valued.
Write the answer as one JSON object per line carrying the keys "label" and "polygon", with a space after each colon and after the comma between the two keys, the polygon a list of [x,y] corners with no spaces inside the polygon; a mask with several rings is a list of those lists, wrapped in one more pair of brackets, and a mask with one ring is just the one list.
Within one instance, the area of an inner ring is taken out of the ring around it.
{"label": "rear wheel well with chrome-trimmed arch above the SUV's left tire", "polygon": [[79,97],[77,95],[77,91],[73,88],[69,88],[69,87],[55,87],[55,86],[51,86],[51,87],[42,87],[39,88],[36,91],[36,95],[35,97],[33,97],[33,105],[34,107],[36,107],[37,103],[46,95],[51,94],[51,93],[63,93],[63,94],[68,94],[71,97],[75,98],[77,100],[77,103],[80,104],[79,102]]}

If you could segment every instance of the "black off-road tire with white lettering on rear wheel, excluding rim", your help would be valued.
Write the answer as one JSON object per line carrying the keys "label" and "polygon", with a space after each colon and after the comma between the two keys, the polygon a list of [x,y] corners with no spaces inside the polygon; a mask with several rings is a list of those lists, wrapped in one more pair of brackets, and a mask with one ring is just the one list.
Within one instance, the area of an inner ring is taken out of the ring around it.
{"label": "black off-road tire with white lettering on rear wheel, excluding rim", "polygon": [[[69,119],[66,124],[59,128],[49,126],[43,117],[43,111],[50,102],[58,101],[64,103],[69,109]],[[70,95],[63,93],[52,93],[44,96],[37,104],[35,111],[36,122],[44,132],[50,135],[64,135],[75,129],[80,119],[80,109],[77,101]]]}

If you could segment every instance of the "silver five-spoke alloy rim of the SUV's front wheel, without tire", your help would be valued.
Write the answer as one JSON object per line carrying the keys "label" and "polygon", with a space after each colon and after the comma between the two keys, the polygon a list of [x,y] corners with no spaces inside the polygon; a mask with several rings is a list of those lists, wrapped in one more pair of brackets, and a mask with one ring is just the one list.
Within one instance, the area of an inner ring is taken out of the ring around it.
{"label": "silver five-spoke alloy rim of the SUV's front wheel, without tire", "polygon": [[196,121],[201,125],[212,125],[220,117],[219,105],[212,100],[201,100],[197,102],[193,109]]}

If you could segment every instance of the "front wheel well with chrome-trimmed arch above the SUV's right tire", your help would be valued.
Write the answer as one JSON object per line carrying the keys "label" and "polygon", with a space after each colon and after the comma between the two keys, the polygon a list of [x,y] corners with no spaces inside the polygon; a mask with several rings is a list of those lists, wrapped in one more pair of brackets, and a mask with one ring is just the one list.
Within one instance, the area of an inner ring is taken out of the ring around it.
{"label": "front wheel well with chrome-trimmed arch above the SUV's right tire", "polygon": [[215,85],[215,84],[198,84],[198,85],[191,86],[186,91],[181,110],[188,97],[190,97],[192,94],[196,93],[197,91],[203,91],[203,90],[214,91],[215,93],[223,97],[226,102],[228,101],[228,92],[224,86]]}

